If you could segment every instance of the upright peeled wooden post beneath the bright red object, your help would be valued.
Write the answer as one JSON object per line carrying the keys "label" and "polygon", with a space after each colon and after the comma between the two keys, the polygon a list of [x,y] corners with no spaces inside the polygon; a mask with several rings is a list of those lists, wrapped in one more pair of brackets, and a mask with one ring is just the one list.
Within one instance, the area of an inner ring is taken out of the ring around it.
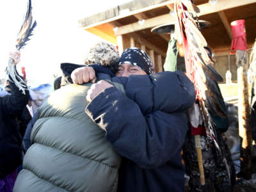
{"label": "upright peeled wooden post beneath the bright red object", "polygon": [[246,179],[252,179],[251,173],[251,145],[252,134],[250,127],[250,105],[248,100],[248,81],[246,65],[248,63],[248,54],[246,51],[236,51],[237,64],[237,84],[238,84],[238,120],[239,120],[239,136],[243,139],[240,160],[241,160],[241,176]]}

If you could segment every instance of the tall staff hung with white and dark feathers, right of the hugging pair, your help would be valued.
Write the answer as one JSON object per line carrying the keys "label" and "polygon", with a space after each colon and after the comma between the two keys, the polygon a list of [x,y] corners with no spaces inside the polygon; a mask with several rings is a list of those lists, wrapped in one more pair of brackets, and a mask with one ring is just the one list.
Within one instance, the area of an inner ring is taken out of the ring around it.
{"label": "tall staff hung with white and dark feathers, right of the hugging pair", "polygon": [[215,62],[212,60],[207,42],[193,18],[194,16],[197,17],[200,10],[190,0],[176,0],[174,7],[177,41],[183,45],[186,74],[194,83],[196,90],[196,102],[191,113],[193,115],[191,125],[200,127],[204,122],[206,134],[214,142],[218,154],[223,157],[230,179],[227,160],[219,147],[218,143],[221,142],[219,142],[218,134],[216,134],[216,124],[212,119],[212,115],[227,118],[227,112],[223,107],[223,98],[216,83],[223,81],[223,79],[212,67]]}

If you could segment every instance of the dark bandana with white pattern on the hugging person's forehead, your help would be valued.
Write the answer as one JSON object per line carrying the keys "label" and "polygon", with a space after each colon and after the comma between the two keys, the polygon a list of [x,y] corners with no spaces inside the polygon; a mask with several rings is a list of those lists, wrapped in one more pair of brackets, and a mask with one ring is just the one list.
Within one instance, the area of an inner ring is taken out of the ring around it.
{"label": "dark bandana with white pattern on the hugging person's forehead", "polygon": [[146,52],[137,47],[126,49],[117,63],[118,65],[128,63],[136,67],[140,67],[148,75],[154,73],[154,63],[150,60]]}

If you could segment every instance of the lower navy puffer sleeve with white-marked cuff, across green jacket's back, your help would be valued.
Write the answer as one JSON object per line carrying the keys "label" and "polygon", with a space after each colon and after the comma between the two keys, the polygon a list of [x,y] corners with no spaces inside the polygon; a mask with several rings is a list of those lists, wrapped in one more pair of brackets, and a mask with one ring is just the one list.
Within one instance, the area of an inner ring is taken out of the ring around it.
{"label": "lower navy puffer sleeve with white-marked cuff, across green jacket's back", "polygon": [[153,111],[147,115],[116,88],[101,92],[86,113],[102,129],[121,155],[142,168],[155,168],[176,158],[188,129],[184,113]]}

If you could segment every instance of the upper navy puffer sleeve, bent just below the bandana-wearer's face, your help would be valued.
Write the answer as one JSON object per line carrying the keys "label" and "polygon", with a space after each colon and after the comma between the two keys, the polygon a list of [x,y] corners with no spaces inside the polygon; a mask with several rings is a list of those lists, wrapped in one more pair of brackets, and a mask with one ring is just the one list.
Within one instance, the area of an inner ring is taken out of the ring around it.
{"label": "upper navy puffer sleeve, bent just below the bandana-wearer's face", "polygon": [[184,111],[195,102],[194,84],[183,72],[114,77],[112,81],[123,84],[126,96],[140,106],[143,114]]}

